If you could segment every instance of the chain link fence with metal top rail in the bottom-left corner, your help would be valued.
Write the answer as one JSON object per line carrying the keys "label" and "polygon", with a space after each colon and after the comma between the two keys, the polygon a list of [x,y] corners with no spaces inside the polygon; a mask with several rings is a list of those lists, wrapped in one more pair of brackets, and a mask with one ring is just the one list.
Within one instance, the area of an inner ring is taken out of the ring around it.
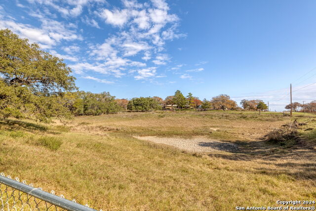
{"label": "chain link fence with metal top rail in the bottom-left corner", "polygon": [[[9,175],[0,174],[0,211],[96,211],[88,205],[69,201],[54,191],[47,193],[41,188],[26,184],[19,178],[13,180]],[[100,210],[102,211],[102,210]]]}

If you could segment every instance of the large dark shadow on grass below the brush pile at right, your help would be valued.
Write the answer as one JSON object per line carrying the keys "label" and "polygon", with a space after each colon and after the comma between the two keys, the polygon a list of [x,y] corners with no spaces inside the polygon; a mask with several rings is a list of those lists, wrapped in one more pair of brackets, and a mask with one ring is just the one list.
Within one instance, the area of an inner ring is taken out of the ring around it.
{"label": "large dark shadow on grass below the brush pile at right", "polygon": [[[259,167],[237,169],[238,171],[274,176],[283,181],[316,181],[316,151],[300,142],[289,146],[280,146],[266,140],[235,141],[234,144],[238,149],[230,153],[212,152],[208,155],[226,160],[255,161],[259,164]],[[214,148],[216,147],[215,143]]]}

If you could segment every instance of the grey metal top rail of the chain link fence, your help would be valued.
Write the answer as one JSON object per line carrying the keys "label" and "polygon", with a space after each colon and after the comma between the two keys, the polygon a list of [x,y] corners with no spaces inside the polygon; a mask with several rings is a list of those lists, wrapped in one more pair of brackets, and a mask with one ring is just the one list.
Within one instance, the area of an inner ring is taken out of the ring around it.
{"label": "grey metal top rail of the chain link fence", "polygon": [[89,207],[80,205],[76,202],[69,201],[67,199],[64,199],[62,197],[47,193],[45,191],[42,191],[41,188],[34,188],[30,185],[26,185],[24,183],[15,181],[13,179],[10,179],[8,177],[5,177],[3,175],[0,175],[0,183],[9,186],[11,188],[17,189],[21,192],[24,192],[28,195],[34,196],[36,198],[39,198],[40,200],[43,200],[45,202],[48,202],[50,204],[56,205],[60,208],[63,208],[68,211],[96,211],[94,209],[91,209]]}

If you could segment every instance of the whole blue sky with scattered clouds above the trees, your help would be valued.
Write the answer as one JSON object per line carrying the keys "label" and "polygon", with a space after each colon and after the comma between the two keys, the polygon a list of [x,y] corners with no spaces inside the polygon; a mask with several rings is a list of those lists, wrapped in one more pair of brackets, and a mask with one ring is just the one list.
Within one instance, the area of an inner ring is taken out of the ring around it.
{"label": "whole blue sky with scattered clouds above the trees", "polygon": [[316,99],[315,11],[315,0],[1,0],[0,28],[63,58],[80,90],[225,93],[282,111],[290,83],[294,101]]}

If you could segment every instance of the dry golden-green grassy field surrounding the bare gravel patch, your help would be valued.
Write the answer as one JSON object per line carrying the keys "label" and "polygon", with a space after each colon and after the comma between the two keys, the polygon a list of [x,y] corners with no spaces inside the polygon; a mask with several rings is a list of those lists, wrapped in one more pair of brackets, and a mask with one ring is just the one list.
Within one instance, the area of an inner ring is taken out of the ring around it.
{"label": "dry golden-green grassy field surrounding the bare gravel patch", "polygon": [[[298,139],[264,139],[295,119],[304,123]],[[204,136],[238,150],[191,153],[134,138],[149,135]],[[0,146],[0,171],[97,210],[222,211],[316,199],[311,114],[124,112],[67,126],[2,120]]]}

